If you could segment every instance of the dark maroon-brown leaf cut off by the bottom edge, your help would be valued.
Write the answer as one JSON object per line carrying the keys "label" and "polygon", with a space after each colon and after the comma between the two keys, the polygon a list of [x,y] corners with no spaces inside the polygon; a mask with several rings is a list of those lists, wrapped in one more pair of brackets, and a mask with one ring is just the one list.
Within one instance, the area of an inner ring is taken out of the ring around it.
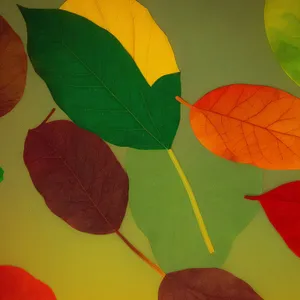
{"label": "dark maroon-brown leaf cut off by the bottom edge", "polygon": [[262,300],[243,280],[221,269],[188,269],[163,279],[158,300]]}

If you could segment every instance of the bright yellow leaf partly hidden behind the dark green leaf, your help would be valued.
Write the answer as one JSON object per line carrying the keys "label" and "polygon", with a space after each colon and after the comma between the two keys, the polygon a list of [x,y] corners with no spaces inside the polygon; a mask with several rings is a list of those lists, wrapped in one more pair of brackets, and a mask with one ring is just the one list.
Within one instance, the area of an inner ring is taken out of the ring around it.
{"label": "bright yellow leaf partly hidden behind the dark green leaf", "polygon": [[61,9],[81,15],[111,32],[150,85],[165,74],[178,72],[167,36],[136,0],[67,0]]}

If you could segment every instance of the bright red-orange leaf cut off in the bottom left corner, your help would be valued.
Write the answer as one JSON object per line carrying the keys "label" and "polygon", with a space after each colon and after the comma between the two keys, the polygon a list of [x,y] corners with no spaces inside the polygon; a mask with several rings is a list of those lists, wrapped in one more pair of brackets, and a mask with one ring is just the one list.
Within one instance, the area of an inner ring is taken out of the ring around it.
{"label": "bright red-orange leaf cut off in the bottom left corner", "polygon": [[25,270],[0,266],[0,299],[55,300],[56,297],[50,287]]}

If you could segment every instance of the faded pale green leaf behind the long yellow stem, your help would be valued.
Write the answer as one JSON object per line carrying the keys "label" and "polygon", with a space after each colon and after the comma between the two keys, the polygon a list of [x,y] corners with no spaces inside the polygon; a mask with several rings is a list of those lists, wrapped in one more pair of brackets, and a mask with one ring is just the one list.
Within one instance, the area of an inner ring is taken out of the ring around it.
{"label": "faded pale green leaf behind the long yellow stem", "polygon": [[193,187],[215,252],[209,254],[180,178],[166,151],[127,152],[130,207],[166,272],[221,267],[237,235],[260,209],[246,201],[261,192],[262,170],[219,158],[199,145],[186,118],[174,143]]}

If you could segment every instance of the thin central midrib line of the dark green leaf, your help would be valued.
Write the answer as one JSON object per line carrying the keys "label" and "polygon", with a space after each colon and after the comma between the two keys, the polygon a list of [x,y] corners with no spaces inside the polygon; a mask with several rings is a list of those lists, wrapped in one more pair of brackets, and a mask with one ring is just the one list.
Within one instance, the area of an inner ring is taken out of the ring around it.
{"label": "thin central midrib line of the dark green leaf", "polygon": [[98,80],[98,82],[108,91],[109,94],[121,105],[124,109],[135,119],[135,121],[151,136],[156,142],[158,142],[164,149],[168,149],[158,138],[156,138],[144,125],[140,122],[140,120],[128,109],[128,107],[120,100],[118,97],[106,86],[101,78],[82,60],[80,57],[64,42],[62,37],[62,45],[71,52],[71,54]]}

